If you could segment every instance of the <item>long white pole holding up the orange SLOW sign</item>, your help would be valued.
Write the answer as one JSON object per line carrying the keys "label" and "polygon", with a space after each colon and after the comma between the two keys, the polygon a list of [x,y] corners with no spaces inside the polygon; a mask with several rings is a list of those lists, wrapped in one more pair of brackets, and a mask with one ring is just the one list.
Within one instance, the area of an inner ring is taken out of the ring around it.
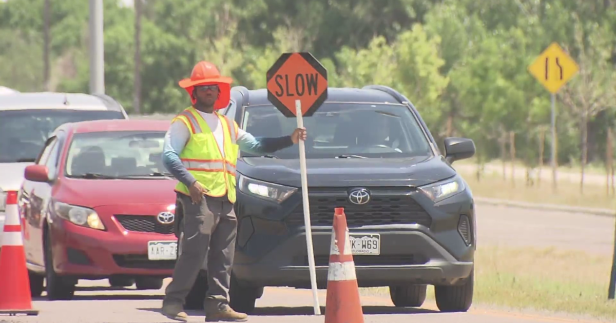
{"label": "long white pole holding up the orange SLOW sign", "polygon": [[[295,100],[295,115],[298,119],[298,128],[303,128],[302,103],[299,100]],[[310,268],[314,314],[321,315],[321,307],[318,305],[317,269],[314,264],[314,249],[312,247],[312,226],[310,225],[310,205],[308,204],[308,175],[306,173],[306,148],[304,147],[304,140],[299,140],[299,167],[302,176],[302,204],[304,205],[304,226],[306,226],[306,247],[308,249],[308,266]]]}

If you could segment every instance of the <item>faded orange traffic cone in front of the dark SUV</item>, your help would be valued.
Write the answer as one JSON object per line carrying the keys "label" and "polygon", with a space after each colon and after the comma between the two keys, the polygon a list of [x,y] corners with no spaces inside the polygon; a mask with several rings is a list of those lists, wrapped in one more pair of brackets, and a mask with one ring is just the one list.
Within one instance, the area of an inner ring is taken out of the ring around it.
{"label": "faded orange traffic cone in front of the dark SUV", "polygon": [[325,323],[363,323],[362,303],[344,208],[334,209],[330,268],[327,274]]}

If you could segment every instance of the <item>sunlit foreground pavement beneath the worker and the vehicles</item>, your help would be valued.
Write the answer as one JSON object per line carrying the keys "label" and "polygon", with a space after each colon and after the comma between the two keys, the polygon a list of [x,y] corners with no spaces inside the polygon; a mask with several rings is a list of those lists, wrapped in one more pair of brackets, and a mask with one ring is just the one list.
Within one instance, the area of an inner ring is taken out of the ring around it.
{"label": "sunlit foreground pavement beneath the worker and the vehicles", "polygon": [[[0,323],[158,323],[176,322],[159,313],[162,290],[105,290],[97,285],[106,281],[82,281],[75,300],[35,300],[38,316],[0,316]],[[256,312],[249,322],[301,323],[323,322],[325,317],[325,290],[320,291],[321,316],[314,316],[310,290],[268,288],[257,301]],[[537,314],[507,313],[482,308],[471,308],[467,313],[439,313],[433,302],[426,301],[422,308],[395,308],[385,297],[362,296],[365,323],[544,323],[593,322],[566,317],[546,317]],[[203,322],[199,311],[189,311],[189,322]],[[5,321],[2,321],[2,320]],[[343,323],[343,322],[340,322]],[[346,322],[344,322],[346,323]],[[355,323],[355,322],[349,322]]]}

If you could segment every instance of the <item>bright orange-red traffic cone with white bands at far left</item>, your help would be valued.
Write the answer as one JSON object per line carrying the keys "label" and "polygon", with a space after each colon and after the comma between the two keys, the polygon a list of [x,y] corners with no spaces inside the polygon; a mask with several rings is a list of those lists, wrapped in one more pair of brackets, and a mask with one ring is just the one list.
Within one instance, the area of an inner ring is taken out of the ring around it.
{"label": "bright orange-red traffic cone with white bands at far left", "polygon": [[0,314],[38,315],[38,310],[32,308],[15,191],[9,191],[6,197],[6,222],[4,232],[0,233],[0,248]]}

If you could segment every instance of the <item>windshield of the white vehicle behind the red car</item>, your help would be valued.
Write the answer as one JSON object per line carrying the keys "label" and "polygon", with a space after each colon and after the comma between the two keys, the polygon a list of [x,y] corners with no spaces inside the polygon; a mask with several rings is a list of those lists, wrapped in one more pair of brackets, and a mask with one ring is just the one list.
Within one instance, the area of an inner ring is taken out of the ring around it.
{"label": "windshield of the white vehicle behind the red car", "polygon": [[34,162],[47,137],[67,122],[124,119],[120,111],[0,111],[0,162]]}

